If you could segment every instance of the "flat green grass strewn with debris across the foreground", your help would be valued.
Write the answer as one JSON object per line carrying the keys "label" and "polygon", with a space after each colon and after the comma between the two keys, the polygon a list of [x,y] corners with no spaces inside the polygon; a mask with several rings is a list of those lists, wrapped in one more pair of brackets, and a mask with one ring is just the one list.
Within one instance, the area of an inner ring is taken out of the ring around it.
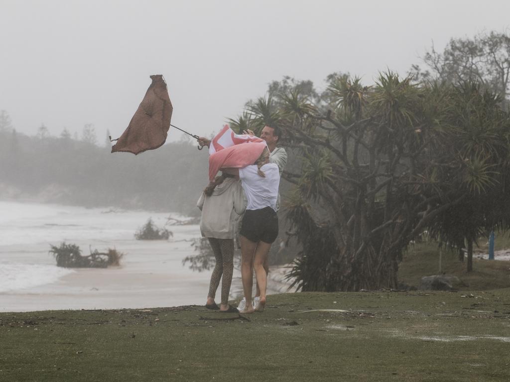
{"label": "flat green grass strewn with debris across the foreground", "polygon": [[[0,314],[2,381],[510,380],[510,289]],[[303,312],[340,309],[344,312]]]}

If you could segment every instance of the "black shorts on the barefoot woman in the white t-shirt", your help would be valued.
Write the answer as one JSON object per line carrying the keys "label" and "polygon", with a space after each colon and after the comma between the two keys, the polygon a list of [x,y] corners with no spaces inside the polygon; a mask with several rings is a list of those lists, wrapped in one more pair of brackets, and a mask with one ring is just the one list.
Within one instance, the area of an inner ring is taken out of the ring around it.
{"label": "black shorts on the barefoot woman in the white t-shirt", "polygon": [[247,209],[239,233],[250,241],[271,244],[278,236],[278,215],[271,207]]}

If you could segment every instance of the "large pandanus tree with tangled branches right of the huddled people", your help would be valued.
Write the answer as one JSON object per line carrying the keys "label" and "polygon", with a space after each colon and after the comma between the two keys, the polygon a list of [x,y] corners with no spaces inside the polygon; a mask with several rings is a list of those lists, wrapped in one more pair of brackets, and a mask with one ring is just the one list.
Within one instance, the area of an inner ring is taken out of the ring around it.
{"label": "large pandanus tree with tangled branches right of the huddled people", "polygon": [[[329,78],[320,102],[297,87],[273,95],[294,158],[283,175],[295,185],[284,206],[302,244],[291,275],[302,290],[395,288],[410,240],[463,203],[508,196],[496,191],[508,116],[473,84],[415,84],[393,72],[371,87]],[[251,111],[260,124],[265,116]],[[473,135],[475,123],[483,134]]]}

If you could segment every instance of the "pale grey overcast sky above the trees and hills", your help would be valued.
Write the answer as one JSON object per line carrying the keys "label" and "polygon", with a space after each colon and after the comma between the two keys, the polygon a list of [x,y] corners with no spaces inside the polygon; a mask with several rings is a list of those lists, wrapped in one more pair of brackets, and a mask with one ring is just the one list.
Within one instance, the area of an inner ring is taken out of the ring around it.
{"label": "pale grey overcast sky above the trees and hills", "polygon": [[[317,88],[332,72],[371,84],[405,74],[433,43],[508,31],[508,0],[0,0],[0,110],[17,131],[41,123],[118,138],[163,74],[172,124],[218,131],[285,75]],[[171,129],[168,140],[183,133]]]}

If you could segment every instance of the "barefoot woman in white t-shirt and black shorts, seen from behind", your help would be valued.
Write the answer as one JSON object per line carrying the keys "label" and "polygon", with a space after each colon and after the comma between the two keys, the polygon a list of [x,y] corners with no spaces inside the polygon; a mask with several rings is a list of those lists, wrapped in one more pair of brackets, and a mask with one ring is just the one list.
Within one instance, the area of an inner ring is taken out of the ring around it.
{"label": "barefoot woman in white t-shirt and black shorts, seen from behind", "polygon": [[260,288],[260,304],[257,311],[262,312],[266,305],[267,274],[264,261],[271,243],[278,236],[278,216],[276,201],[280,174],[275,163],[269,163],[269,150],[266,148],[254,165],[239,169],[239,177],[248,201],[241,225],[241,276],[246,306],[241,313],[253,313],[251,303],[252,268],[255,271]]}

